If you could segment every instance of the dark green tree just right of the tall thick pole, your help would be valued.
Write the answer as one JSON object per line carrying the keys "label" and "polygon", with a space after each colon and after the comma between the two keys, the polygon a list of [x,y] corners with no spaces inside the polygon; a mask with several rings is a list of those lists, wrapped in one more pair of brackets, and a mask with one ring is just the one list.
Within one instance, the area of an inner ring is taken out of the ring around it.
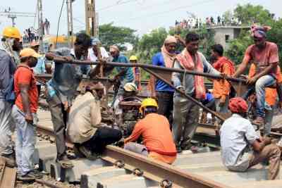
{"label": "dark green tree just right of the tall thick pole", "polygon": [[137,36],[134,34],[136,30],[129,27],[114,26],[114,23],[108,23],[99,26],[99,39],[102,44],[109,49],[109,46],[115,44],[124,50],[125,43],[136,44]]}

